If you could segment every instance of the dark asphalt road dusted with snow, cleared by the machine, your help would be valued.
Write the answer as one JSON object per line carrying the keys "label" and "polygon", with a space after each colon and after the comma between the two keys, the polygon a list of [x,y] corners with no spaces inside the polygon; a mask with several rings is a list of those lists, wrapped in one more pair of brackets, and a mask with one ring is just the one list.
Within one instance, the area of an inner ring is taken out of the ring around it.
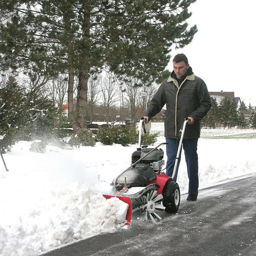
{"label": "dark asphalt road dusted with snow, cleared by the machine", "polygon": [[132,219],[127,230],[62,247],[45,256],[256,256],[256,174],[181,195],[176,214],[156,224]]}

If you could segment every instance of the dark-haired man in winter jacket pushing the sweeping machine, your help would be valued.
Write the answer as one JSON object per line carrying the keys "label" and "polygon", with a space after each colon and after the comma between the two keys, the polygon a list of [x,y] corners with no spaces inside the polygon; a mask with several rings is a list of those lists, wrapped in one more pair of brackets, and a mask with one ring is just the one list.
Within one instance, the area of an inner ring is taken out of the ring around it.
{"label": "dark-haired man in winter jacket pushing the sweeping machine", "polygon": [[[187,200],[196,201],[198,195],[197,140],[200,137],[200,120],[210,110],[212,103],[206,84],[194,75],[183,53],[174,57],[171,76],[163,81],[150,101],[144,115],[146,123],[159,113],[165,104],[164,136],[168,143],[166,145],[166,175],[172,176],[179,146],[179,131],[185,118],[188,118],[190,122],[186,125],[182,142],[189,179]],[[180,159],[173,179],[175,182],[179,164]]]}

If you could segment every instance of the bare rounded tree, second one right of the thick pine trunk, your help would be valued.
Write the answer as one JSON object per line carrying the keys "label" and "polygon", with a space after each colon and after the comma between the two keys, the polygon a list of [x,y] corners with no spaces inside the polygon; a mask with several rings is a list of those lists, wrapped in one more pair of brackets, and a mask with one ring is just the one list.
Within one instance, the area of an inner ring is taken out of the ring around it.
{"label": "bare rounded tree, second one right of the thick pine trunk", "polygon": [[104,108],[106,110],[106,122],[108,124],[110,116],[110,108],[115,107],[119,100],[118,86],[115,78],[111,75],[106,75],[101,84],[101,91],[103,95]]}

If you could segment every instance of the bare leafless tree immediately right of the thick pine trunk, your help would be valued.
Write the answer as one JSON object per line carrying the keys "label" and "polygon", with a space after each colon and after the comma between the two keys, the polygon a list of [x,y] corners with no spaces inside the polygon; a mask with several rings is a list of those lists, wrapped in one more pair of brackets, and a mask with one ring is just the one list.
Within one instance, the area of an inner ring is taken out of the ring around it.
{"label": "bare leafless tree immediately right of the thick pine trunk", "polygon": [[93,121],[93,111],[98,107],[97,103],[100,99],[100,84],[102,84],[102,76],[93,74],[88,81],[88,105],[90,110],[90,122]]}

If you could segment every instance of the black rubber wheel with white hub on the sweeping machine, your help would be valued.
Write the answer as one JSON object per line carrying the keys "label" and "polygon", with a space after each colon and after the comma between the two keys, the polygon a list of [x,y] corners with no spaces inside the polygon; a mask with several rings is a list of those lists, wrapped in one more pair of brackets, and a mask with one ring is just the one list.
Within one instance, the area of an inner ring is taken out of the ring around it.
{"label": "black rubber wheel with white hub on the sweeping machine", "polygon": [[178,183],[169,181],[165,184],[163,189],[163,205],[165,212],[177,212],[180,207],[180,187]]}

